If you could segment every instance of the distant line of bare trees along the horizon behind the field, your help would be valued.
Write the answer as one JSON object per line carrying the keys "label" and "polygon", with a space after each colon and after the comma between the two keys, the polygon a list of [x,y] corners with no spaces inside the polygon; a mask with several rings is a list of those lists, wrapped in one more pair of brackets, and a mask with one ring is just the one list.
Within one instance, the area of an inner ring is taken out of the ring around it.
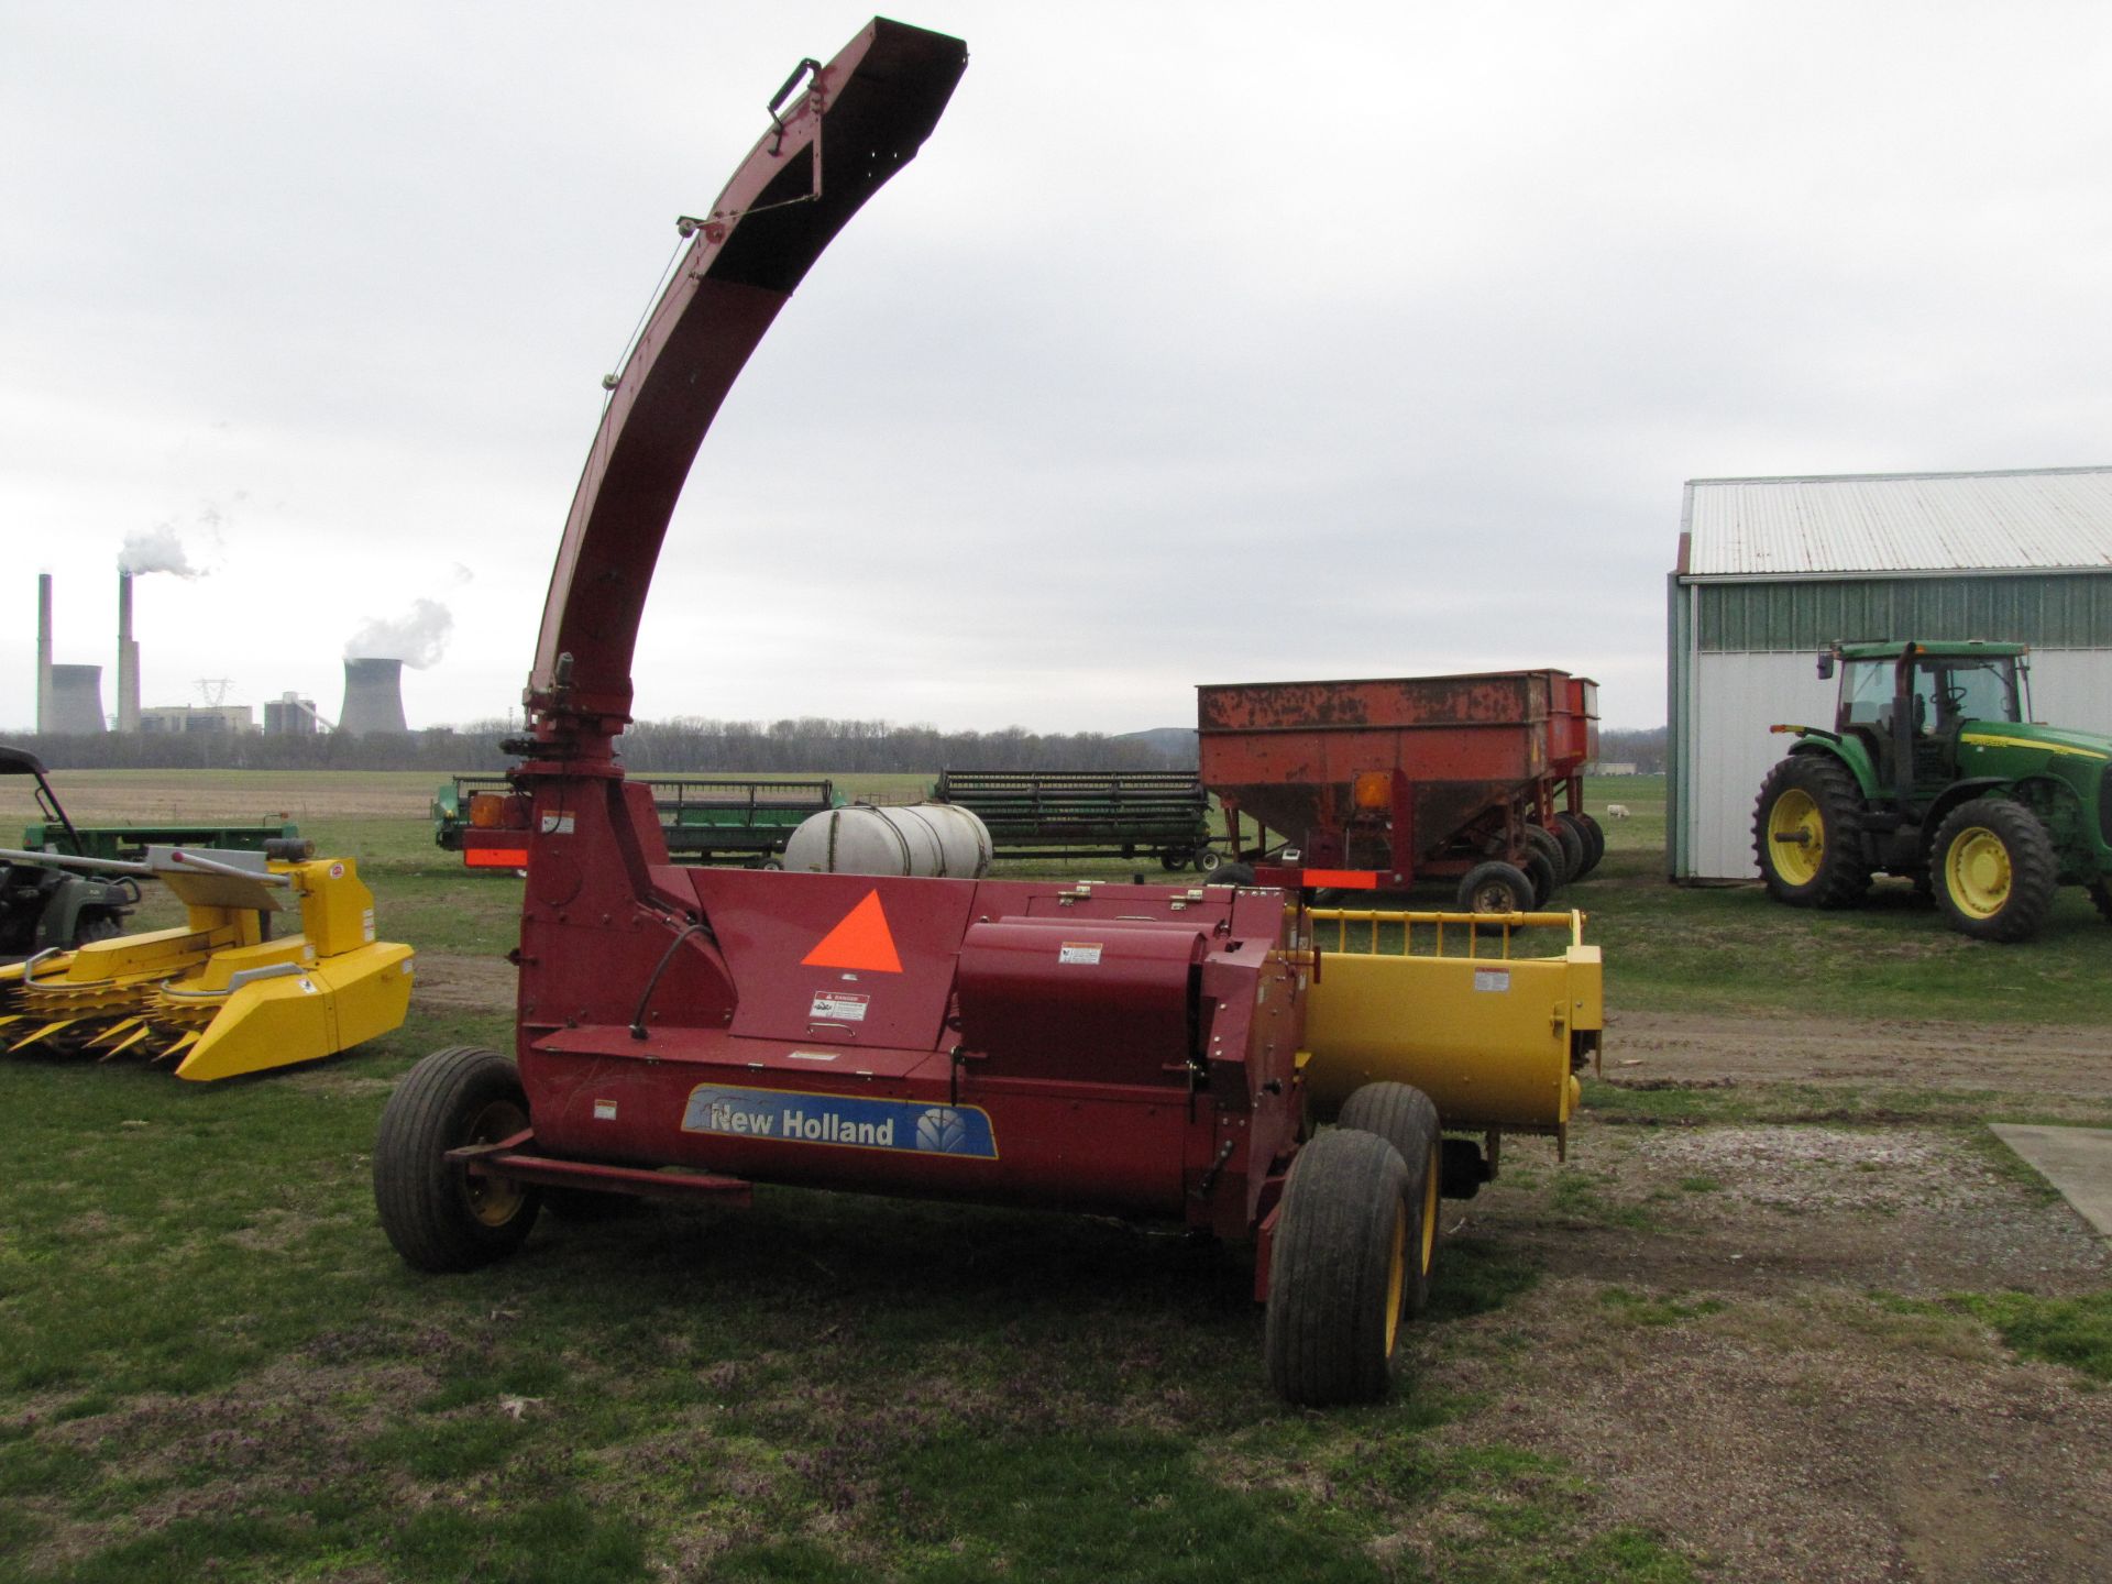
{"label": "distant line of bare trees along the horizon behind the field", "polygon": [[[511,756],[501,748],[520,724],[477,720],[414,733],[97,733],[89,737],[23,735],[46,767],[139,771],[501,771]],[[1098,731],[1035,733],[940,731],[898,727],[887,720],[634,720],[617,743],[623,765],[638,773],[672,775],[853,775],[931,773],[940,769],[1045,769],[1045,771],[1151,771],[1189,769],[1178,748],[1147,737],[1109,737]]]}

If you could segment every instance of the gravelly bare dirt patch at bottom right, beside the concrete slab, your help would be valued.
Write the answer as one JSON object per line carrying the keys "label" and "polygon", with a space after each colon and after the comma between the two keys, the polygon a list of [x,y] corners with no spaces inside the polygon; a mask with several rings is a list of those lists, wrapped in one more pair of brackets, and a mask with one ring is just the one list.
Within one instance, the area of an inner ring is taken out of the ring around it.
{"label": "gravelly bare dirt patch at bottom right, beside the concrete slab", "polygon": [[1941,1297],[2101,1290],[2112,1257],[1970,1136],[1586,1126],[1455,1217],[1455,1257],[1544,1276],[1430,1360],[1491,1400],[1447,1434],[1590,1470],[1599,1521],[1713,1578],[2104,1578],[2112,1392]]}

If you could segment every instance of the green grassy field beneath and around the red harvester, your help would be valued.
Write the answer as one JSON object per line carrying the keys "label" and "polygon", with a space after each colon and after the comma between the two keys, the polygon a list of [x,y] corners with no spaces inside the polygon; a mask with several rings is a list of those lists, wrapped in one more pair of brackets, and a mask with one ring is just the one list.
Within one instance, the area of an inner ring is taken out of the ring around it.
{"label": "green grassy field beneath and around the red harvester", "polygon": [[[429,777],[63,790],[80,819],[283,811],[359,860],[384,938],[513,942],[520,883],[431,845]],[[1609,798],[1635,817],[1571,902],[1616,1007],[2112,1020],[2112,929],[2087,902],[1990,948],[1903,902],[1810,917],[1677,891],[1662,784],[1592,788]],[[507,1048],[507,1018],[420,1001],[344,1058],[205,1088],[0,1062],[0,1580],[1713,1576],[1624,1521],[1588,1459],[1489,1428],[1533,1377],[1516,1316],[1544,1257],[1487,1231],[1449,1246],[1396,1400],[1326,1415],[1267,1394],[1236,1252],[1098,1221],[762,1189],[748,1212],[555,1223],[490,1271],[414,1276],[374,1221],[374,1128],[458,1041]],[[1696,1100],[1599,1098],[1624,1121]],[[1751,1124],[1776,1100],[1700,1096],[1687,1119],[1711,1105]],[[1508,1191],[1557,1227],[1647,1210],[1588,1181],[1527,1140]],[[1677,1290],[1614,1293],[1622,1326],[1717,1324]],[[1937,1305],[1943,1335],[2112,1360],[2099,1297],[2004,1303]]]}

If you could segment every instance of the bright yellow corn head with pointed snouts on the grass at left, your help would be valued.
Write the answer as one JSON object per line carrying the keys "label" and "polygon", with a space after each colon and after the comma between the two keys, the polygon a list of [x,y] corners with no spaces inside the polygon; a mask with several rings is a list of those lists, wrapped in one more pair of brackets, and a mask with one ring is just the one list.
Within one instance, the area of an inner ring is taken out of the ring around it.
{"label": "bright yellow corn head with pointed snouts on the grass at left", "polygon": [[[150,847],[144,864],[72,862],[152,874],[188,923],[0,967],[0,1050],[144,1056],[218,1079],[313,1062],[410,1010],[412,950],[374,940],[374,893],[346,857]],[[296,910],[298,934],[275,931]]]}

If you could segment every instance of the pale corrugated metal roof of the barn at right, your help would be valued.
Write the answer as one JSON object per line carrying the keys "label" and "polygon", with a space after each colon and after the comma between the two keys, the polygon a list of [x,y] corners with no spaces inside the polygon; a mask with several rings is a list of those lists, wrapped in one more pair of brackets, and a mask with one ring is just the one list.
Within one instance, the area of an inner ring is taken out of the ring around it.
{"label": "pale corrugated metal roof of the barn at right", "polygon": [[1685,577],[2112,570],[2112,467],[1690,479]]}

